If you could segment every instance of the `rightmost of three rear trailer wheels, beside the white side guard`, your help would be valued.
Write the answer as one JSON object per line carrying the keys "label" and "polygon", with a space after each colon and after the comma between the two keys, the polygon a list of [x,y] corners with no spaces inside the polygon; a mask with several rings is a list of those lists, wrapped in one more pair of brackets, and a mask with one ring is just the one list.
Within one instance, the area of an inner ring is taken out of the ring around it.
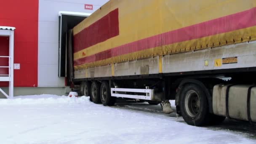
{"label": "rightmost of three rear trailer wheels, beside the white side guard", "polygon": [[109,83],[106,81],[101,83],[100,97],[104,106],[113,106],[115,104],[116,97],[111,96]]}

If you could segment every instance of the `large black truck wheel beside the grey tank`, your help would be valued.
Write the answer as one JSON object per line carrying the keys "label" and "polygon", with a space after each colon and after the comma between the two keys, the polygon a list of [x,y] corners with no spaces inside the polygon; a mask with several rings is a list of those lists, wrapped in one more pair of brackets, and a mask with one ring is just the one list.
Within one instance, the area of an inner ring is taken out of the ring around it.
{"label": "large black truck wheel beside the grey tank", "polygon": [[180,112],[189,125],[202,126],[209,122],[208,102],[203,89],[196,84],[181,89]]}

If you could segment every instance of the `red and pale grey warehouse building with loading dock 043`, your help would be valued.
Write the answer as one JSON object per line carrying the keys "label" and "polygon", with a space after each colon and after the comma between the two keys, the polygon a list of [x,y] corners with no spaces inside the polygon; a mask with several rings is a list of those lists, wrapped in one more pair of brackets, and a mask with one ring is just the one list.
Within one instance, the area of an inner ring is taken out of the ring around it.
{"label": "red and pale grey warehouse building with loading dock 043", "polygon": [[[107,1],[8,0],[0,5],[1,30],[13,27],[14,32],[14,96],[63,95],[69,91],[64,67],[65,33]],[[10,56],[9,46],[10,38],[0,35],[0,56]],[[8,58],[0,57],[0,78],[11,74],[8,64]],[[7,94],[8,85],[0,81],[0,88]],[[4,97],[0,93],[0,98]]]}

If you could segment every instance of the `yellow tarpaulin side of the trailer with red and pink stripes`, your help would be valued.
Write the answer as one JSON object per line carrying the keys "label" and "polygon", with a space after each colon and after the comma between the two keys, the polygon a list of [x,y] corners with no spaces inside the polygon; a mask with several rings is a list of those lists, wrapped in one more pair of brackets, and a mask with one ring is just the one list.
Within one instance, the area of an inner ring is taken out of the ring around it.
{"label": "yellow tarpaulin side of the trailer with red and pink stripes", "polygon": [[73,31],[75,70],[241,43],[256,40],[256,0],[110,0]]}

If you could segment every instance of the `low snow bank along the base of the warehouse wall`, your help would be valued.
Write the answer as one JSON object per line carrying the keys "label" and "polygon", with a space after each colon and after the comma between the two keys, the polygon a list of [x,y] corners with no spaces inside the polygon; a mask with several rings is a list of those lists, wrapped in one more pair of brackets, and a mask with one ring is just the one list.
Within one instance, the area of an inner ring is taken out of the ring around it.
{"label": "low snow bank along the base of the warehouse wall", "polygon": [[89,103],[89,97],[69,97],[56,95],[33,95],[33,96],[16,96],[13,99],[0,99],[0,105],[8,104],[78,104]]}

